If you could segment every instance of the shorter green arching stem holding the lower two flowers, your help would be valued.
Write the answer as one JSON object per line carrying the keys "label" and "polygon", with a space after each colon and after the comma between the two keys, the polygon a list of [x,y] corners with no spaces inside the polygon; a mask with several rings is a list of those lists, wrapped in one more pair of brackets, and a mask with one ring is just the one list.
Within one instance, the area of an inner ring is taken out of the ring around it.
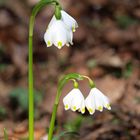
{"label": "shorter green arching stem holding the lower two flowers", "polygon": [[52,137],[53,137],[56,113],[57,113],[57,108],[58,108],[60,96],[62,94],[62,89],[63,89],[64,85],[71,79],[83,80],[83,77],[80,74],[71,73],[71,74],[65,75],[64,78],[59,81],[57,95],[55,98],[53,113],[52,113],[50,127],[49,127],[48,140],[52,140]]}

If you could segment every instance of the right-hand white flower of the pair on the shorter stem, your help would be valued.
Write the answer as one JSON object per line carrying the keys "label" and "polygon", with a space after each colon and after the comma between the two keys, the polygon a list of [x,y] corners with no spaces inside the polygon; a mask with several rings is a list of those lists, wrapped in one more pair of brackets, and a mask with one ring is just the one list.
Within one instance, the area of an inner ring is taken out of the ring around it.
{"label": "right-hand white flower of the pair on the shorter stem", "polygon": [[85,106],[92,115],[96,110],[103,111],[103,107],[111,110],[109,99],[97,88],[92,88],[85,100]]}

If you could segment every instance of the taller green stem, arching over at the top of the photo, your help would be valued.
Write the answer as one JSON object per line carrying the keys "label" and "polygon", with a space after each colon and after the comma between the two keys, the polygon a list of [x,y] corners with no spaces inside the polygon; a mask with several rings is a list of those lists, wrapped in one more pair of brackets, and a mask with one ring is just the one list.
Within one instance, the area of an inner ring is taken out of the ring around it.
{"label": "taller green stem, arching over at the top of the photo", "polygon": [[37,13],[48,4],[59,5],[57,0],[41,0],[32,10],[29,23],[29,140],[34,140],[34,93],[33,93],[33,29]]}

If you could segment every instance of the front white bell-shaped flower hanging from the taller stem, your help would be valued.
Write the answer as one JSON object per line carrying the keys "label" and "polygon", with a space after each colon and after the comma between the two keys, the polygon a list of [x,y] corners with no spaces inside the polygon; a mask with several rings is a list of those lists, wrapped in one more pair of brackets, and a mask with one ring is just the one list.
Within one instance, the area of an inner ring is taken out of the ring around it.
{"label": "front white bell-shaped flower hanging from the taller stem", "polygon": [[72,31],[66,28],[66,25],[62,20],[55,20],[52,22],[51,26],[48,27],[44,35],[47,47],[54,44],[59,49],[61,49],[65,44],[67,46],[69,46],[69,43],[72,44],[72,39]]}

